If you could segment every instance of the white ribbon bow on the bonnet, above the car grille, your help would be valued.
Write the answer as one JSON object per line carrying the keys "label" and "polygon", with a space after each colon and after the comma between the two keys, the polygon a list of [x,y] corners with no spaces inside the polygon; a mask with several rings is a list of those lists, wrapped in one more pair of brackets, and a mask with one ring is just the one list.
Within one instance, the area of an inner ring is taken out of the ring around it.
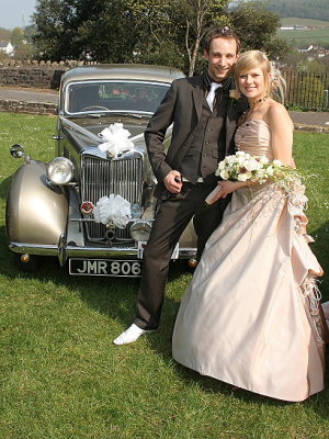
{"label": "white ribbon bow on the bonnet, above the car grille", "polygon": [[111,158],[116,158],[123,153],[134,149],[134,143],[129,139],[131,132],[123,127],[122,123],[111,124],[99,136],[104,143],[99,145],[102,153],[107,153]]}

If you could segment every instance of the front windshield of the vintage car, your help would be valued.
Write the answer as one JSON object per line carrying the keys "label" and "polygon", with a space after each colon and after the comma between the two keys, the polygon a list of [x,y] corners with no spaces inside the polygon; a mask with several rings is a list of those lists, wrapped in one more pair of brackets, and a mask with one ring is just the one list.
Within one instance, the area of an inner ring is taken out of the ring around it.
{"label": "front windshield of the vintage car", "polygon": [[75,82],[66,90],[65,111],[69,114],[154,113],[169,87],[169,83],[145,81]]}

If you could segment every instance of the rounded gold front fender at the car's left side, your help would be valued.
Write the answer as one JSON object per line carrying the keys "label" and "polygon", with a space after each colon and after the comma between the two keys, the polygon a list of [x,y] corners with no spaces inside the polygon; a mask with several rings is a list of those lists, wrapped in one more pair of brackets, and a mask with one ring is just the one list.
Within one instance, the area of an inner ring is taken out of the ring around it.
{"label": "rounded gold front fender at the car's left side", "polygon": [[10,243],[58,245],[65,235],[68,201],[47,179],[46,164],[30,160],[13,176],[5,210]]}

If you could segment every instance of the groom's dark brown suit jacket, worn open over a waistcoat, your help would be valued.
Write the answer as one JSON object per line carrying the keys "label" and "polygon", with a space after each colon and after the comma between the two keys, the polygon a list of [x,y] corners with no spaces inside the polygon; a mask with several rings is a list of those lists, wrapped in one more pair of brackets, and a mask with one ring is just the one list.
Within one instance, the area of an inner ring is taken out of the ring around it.
{"label": "groom's dark brown suit jacket, worn open over a waistcoat", "polygon": [[[230,88],[234,88],[231,80]],[[146,131],[149,160],[158,180],[156,196],[164,191],[163,179],[180,165],[190,147],[189,138],[198,123],[203,105],[203,76],[181,78],[172,82]],[[230,99],[226,115],[226,155],[234,154],[234,134],[239,116],[247,110],[247,101]],[[173,123],[171,143],[163,145],[166,132]]]}

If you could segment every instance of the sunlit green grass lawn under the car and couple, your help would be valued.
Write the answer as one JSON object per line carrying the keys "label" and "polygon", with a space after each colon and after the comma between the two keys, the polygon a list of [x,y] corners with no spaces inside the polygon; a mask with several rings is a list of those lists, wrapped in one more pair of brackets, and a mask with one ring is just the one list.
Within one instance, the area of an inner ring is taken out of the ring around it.
{"label": "sunlit green grass lawn under the car and couple", "polygon": [[[291,404],[234,390],[171,359],[171,333],[191,274],[175,264],[159,331],[116,347],[131,324],[138,281],[75,278],[56,261],[19,272],[7,249],[5,193],[22,143],[49,159],[55,117],[0,113],[0,438],[319,439],[329,437],[329,390]],[[326,134],[296,133],[295,158],[311,180],[309,234],[329,269]],[[321,283],[329,299],[329,279]],[[328,379],[327,379],[328,383]]]}

